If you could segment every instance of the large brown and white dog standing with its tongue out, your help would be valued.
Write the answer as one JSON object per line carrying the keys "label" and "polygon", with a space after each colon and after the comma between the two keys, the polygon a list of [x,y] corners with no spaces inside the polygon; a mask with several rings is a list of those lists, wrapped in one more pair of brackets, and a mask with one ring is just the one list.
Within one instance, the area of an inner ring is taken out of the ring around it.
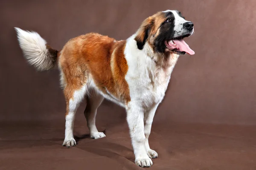
{"label": "large brown and white dog standing with its tongue out", "polygon": [[135,164],[153,164],[151,159],[158,154],[148,144],[151,124],[178,57],[195,54],[183,40],[193,34],[192,22],[185,20],[180,11],[160,11],[146,18],[127,40],[88,33],[70,39],[60,51],[34,31],[15,30],[30,65],[37,71],[60,71],[67,104],[64,146],[76,145],[74,119],[84,98],[90,137],[105,137],[95,125],[97,108],[105,98],[126,109]]}

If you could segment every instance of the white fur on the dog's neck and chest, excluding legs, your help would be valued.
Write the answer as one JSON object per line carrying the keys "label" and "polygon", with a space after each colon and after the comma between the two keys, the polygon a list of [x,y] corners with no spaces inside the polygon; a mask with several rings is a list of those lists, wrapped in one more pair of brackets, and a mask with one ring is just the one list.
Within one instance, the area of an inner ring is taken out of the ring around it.
{"label": "white fur on the dog's neck and chest, excluding legs", "polygon": [[161,102],[175,64],[168,67],[157,65],[145,51],[137,48],[133,37],[127,40],[125,58],[128,63],[125,79],[129,85],[131,101],[147,109]]}

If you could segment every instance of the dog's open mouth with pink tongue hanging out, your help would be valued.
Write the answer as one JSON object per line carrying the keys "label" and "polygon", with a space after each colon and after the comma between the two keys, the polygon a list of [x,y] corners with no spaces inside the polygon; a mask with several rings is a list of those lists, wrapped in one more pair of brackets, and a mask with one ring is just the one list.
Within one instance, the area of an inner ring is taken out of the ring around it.
{"label": "dog's open mouth with pink tongue hanging out", "polygon": [[166,40],[164,43],[170,51],[174,51],[177,54],[188,53],[190,55],[194,55],[195,52],[189,48],[189,45],[187,45],[187,43],[183,40],[183,37],[177,37],[174,40]]}

